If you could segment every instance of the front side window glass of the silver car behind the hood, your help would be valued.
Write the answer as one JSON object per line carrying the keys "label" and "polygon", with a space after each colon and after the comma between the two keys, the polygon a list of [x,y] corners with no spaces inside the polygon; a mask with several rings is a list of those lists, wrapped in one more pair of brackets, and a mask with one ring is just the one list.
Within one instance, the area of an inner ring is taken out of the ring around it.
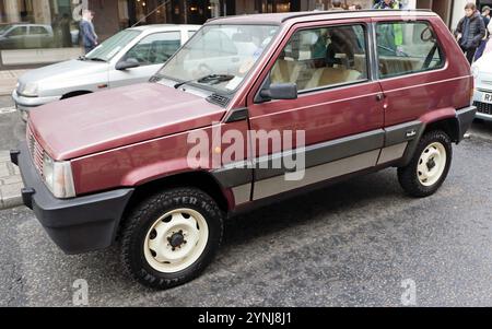
{"label": "front side window glass of the silver car behind the hood", "polygon": [[124,60],[137,59],[140,66],[163,64],[181,46],[180,32],[164,32],[148,35],[131,48]]}

